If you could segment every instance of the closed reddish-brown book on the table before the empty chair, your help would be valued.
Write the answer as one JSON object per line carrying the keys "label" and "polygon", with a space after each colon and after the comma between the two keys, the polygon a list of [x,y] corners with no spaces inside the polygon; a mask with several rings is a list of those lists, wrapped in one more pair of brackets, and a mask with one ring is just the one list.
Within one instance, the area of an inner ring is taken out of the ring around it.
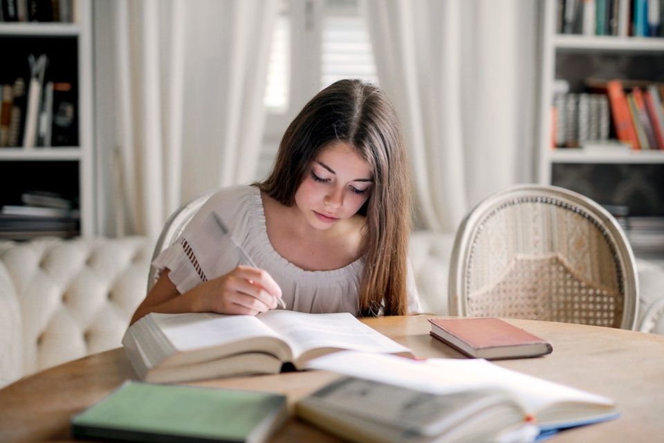
{"label": "closed reddish-brown book on the table before the empty chair", "polygon": [[551,343],[500,318],[430,318],[431,335],[478,359],[550,354]]}

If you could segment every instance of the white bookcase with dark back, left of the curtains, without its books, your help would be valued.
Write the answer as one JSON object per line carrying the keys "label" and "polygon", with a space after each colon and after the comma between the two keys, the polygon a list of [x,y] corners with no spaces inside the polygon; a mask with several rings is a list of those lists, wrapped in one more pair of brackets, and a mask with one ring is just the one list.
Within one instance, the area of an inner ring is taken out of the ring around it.
{"label": "white bookcase with dark back, left of the curtains, without its books", "polygon": [[[6,228],[9,225],[3,226],[0,219],[0,238],[4,239],[30,239],[42,234],[89,237],[95,230],[92,2],[59,0],[51,4],[57,8],[61,2],[71,6],[71,21],[0,21],[4,59],[0,84],[12,84],[17,78],[25,82],[23,101],[14,102],[21,109],[17,143],[8,145],[5,141],[0,146],[0,207],[24,205],[21,198],[24,193],[39,191],[53,192],[71,201],[73,211],[67,215],[70,220],[66,228],[58,228],[53,220],[48,228],[30,228],[35,224],[28,220],[25,229],[14,232],[15,228]],[[21,0],[15,2],[19,3]],[[44,105],[46,95],[42,92],[37,114],[38,135],[32,146],[26,146],[23,142],[29,126],[26,121],[30,108],[30,54],[48,57],[42,91],[48,89],[48,82],[55,84],[55,91],[50,107]],[[50,115],[46,117],[49,108]],[[50,123],[39,123],[40,118]],[[43,136],[44,127],[50,127],[48,137]],[[12,221],[14,226],[20,223],[23,220]],[[37,223],[37,226],[46,225]]]}

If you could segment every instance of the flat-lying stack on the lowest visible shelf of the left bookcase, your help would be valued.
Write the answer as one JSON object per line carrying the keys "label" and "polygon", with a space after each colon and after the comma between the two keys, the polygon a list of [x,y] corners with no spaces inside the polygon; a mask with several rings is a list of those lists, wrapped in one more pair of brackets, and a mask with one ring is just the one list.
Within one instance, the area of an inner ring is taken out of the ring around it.
{"label": "flat-lying stack on the lowest visible shelf of the left bookcase", "polygon": [[79,234],[80,214],[72,201],[52,192],[25,192],[21,200],[22,205],[2,206],[0,238],[68,238]]}

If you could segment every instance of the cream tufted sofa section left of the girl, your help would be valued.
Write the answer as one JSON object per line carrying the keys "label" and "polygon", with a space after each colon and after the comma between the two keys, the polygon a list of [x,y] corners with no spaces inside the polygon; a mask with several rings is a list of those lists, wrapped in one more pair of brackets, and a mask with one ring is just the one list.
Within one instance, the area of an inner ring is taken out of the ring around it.
{"label": "cream tufted sofa section left of the girl", "polygon": [[151,242],[0,243],[0,386],[120,345],[145,297]]}

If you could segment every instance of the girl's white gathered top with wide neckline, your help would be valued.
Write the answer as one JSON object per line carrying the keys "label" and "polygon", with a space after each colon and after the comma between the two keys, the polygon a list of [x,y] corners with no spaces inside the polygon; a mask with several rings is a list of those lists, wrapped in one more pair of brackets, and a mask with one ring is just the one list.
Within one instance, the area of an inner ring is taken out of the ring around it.
{"label": "girl's white gathered top with wide neckline", "polygon": [[[180,293],[228,273],[238,264],[246,264],[228,235],[223,235],[212,211],[223,219],[256,265],[279,284],[287,309],[358,315],[364,260],[360,258],[331,271],[306,271],[288,262],[270,243],[261,193],[255,186],[233,186],[216,192],[194,215],[181,237],[154,260],[152,265],[159,273],[165,268],[170,270],[169,278]],[[410,266],[408,274],[408,311],[418,313],[419,300]]]}

